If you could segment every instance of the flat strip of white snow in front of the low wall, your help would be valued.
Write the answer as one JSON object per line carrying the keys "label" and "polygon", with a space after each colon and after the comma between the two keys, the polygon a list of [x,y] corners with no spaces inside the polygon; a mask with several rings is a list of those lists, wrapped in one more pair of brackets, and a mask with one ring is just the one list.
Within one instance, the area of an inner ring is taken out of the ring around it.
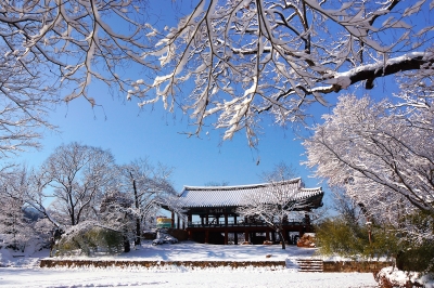
{"label": "flat strip of white snow in front of the low wall", "polygon": [[0,287],[376,287],[370,273],[297,273],[290,270],[213,269],[171,271],[127,269],[0,270]]}

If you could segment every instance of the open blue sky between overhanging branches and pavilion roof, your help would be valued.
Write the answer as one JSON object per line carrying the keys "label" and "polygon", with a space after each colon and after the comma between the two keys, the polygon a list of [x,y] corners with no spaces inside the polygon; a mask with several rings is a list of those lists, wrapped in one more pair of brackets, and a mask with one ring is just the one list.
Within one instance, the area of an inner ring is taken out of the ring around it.
{"label": "open blue sky between overhanging branches and pavilion roof", "polygon": [[304,150],[290,129],[264,127],[259,146],[252,149],[243,133],[225,142],[214,129],[209,129],[208,134],[203,133],[201,139],[188,138],[182,134],[191,131],[186,116],[182,119],[179,115],[167,114],[161,103],[141,110],[135,102],[107,95],[101,104],[102,107],[92,109],[79,99],[59,106],[50,120],[61,132],[46,131],[43,148],[24,153],[21,160],[37,167],[56,146],[76,141],[110,149],[117,163],[148,157],[153,163],[159,161],[173,167],[171,180],[179,192],[183,185],[204,185],[212,181],[225,181],[229,185],[261,183],[260,173],[272,170],[281,161],[292,163],[307,186],[319,185],[318,180],[308,178],[310,172],[299,166]]}

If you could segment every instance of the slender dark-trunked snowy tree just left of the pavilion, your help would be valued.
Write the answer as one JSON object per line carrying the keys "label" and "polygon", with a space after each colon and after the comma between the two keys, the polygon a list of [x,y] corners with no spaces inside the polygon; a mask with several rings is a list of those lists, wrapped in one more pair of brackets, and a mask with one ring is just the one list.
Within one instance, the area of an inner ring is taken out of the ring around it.
{"label": "slender dark-trunked snowy tree just left of the pavilion", "polygon": [[153,166],[149,159],[141,158],[120,167],[120,188],[133,201],[136,219],[135,244],[140,245],[140,235],[151,217],[156,215],[161,205],[176,195],[170,183],[171,168],[158,163]]}

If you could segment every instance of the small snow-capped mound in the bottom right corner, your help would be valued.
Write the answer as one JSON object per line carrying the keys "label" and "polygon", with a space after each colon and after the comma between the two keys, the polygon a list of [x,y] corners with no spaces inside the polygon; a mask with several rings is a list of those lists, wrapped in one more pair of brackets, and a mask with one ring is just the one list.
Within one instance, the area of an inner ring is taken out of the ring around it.
{"label": "small snow-capped mound in the bottom right corner", "polygon": [[400,271],[396,267],[382,269],[375,276],[382,287],[425,287],[434,288],[434,275]]}

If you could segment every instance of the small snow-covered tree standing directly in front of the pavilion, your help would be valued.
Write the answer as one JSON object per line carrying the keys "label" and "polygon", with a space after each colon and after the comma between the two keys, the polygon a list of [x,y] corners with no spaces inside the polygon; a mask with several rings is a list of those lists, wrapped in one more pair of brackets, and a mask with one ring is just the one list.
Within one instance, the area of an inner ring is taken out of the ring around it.
{"label": "small snow-covered tree standing directly in front of the pavilion", "polygon": [[[298,197],[297,182],[294,182],[291,167],[280,163],[264,174],[269,187],[264,192],[248,195],[244,205],[237,209],[241,217],[258,219],[275,230],[285,249],[283,226],[290,219],[304,217],[303,210],[309,210],[309,204]],[[295,187],[295,188],[294,188]],[[303,217],[302,217],[303,215]]]}

